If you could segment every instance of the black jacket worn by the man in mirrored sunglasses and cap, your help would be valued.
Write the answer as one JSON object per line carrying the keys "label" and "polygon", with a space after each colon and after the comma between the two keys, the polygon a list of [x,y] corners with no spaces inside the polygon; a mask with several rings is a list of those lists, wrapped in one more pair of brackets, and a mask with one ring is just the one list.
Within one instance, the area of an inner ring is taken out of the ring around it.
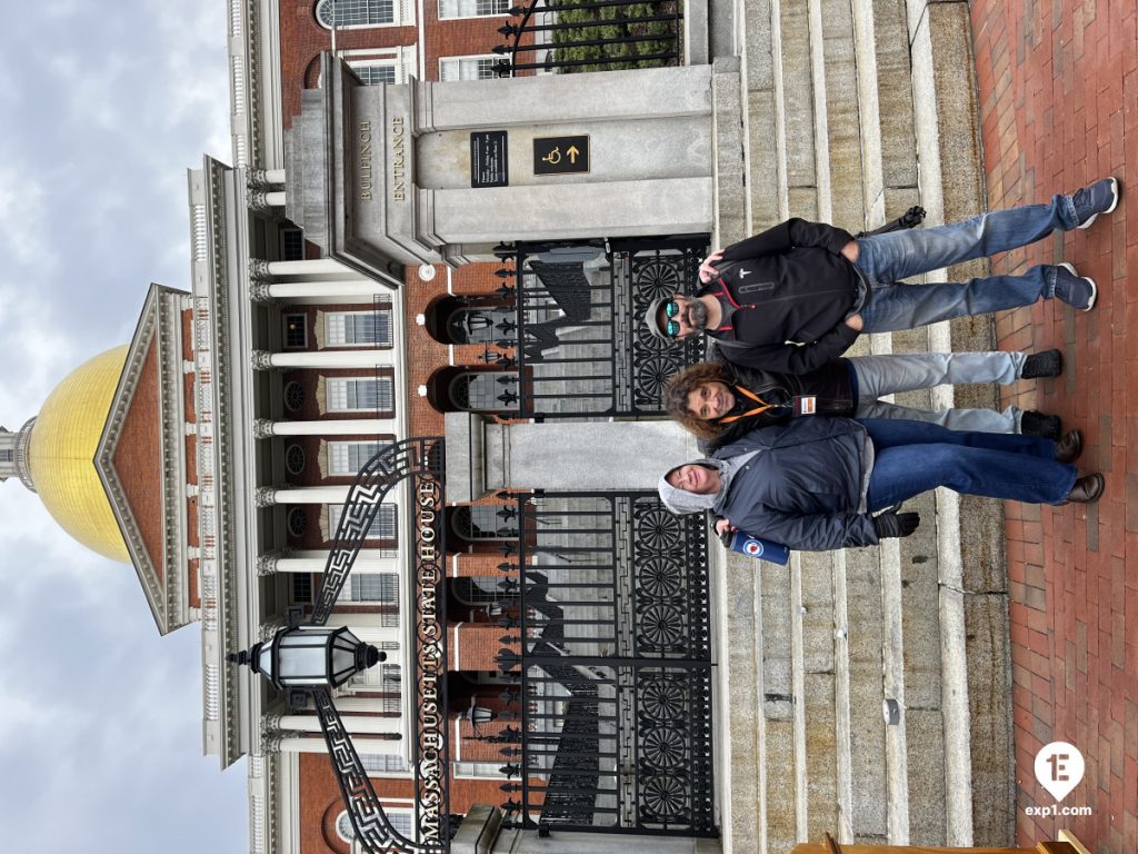
{"label": "black jacket worn by the man in mirrored sunglasses and cap", "polygon": [[844,320],[868,296],[868,284],[841,254],[852,239],[843,229],[792,219],[728,246],[720,276],[698,293],[739,306],[729,325],[708,330],[724,356],[806,373],[844,353],[858,336]]}

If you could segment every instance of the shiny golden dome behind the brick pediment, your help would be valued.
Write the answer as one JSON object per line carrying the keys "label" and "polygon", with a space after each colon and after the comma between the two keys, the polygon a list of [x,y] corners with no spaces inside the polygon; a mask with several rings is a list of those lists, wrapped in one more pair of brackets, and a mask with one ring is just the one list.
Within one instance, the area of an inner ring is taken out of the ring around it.
{"label": "shiny golden dome behind the brick pediment", "polygon": [[35,491],[83,545],[130,564],[126,543],[94,470],[94,452],[126,363],[127,345],[84,362],[56,386],[32,427],[27,463]]}

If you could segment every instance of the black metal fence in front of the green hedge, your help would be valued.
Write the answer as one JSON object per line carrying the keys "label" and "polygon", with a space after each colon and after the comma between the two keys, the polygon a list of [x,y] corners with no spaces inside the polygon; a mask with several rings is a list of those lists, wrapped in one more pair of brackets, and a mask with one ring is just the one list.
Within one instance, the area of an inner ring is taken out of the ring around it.
{"label": "black metal fence in front of the green hedge", "polygon": [[654,68],[683,61],[679,0],[530,0],[510,9],[498,76]]}

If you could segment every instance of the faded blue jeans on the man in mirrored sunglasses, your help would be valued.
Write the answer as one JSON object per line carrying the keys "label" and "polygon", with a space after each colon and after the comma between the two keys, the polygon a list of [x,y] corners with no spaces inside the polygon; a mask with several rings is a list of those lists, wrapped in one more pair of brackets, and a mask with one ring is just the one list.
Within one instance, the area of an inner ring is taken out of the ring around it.
{"label": "faded blue jeans on the man in mirrored sunglasses", "polygon": [[905,229],[858,238],[857,268],[873,286],[861,310],[867,332],[914,329],[940,320],[1031,305],[1055,296],[1055,266],[1033,266],[1021,276],[991,276],[966,282],[906,285],[901,280],[1016,249],[1055,229],[1078,225],[1070,196],[1049,205],[991,211],[971,220],[930,229]]}

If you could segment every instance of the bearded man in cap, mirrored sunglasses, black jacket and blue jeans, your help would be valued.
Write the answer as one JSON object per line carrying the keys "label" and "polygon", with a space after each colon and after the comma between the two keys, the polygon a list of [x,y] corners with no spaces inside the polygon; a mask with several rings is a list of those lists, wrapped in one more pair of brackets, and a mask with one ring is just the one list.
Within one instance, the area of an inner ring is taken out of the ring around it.
{"label": "bearded man in cap, mirrored sunglasses, black jacket and blue jeans", "polygon": [[913,329],[1039,298],[1089,311],[1098,289],[1071,264],[966,282],[902,280],[1025,246],[1055,229],[1087,228],[1114,210],[1119,194],[1118,180],[1106,178],[1049,205],[856,240],[844,229],[787,220],[709,255],[699,272],[703,287],[693,297],[653,299],[645,326],[665,340],[707,332],[736,364],[806,373],[844,353],[861,331]]}

